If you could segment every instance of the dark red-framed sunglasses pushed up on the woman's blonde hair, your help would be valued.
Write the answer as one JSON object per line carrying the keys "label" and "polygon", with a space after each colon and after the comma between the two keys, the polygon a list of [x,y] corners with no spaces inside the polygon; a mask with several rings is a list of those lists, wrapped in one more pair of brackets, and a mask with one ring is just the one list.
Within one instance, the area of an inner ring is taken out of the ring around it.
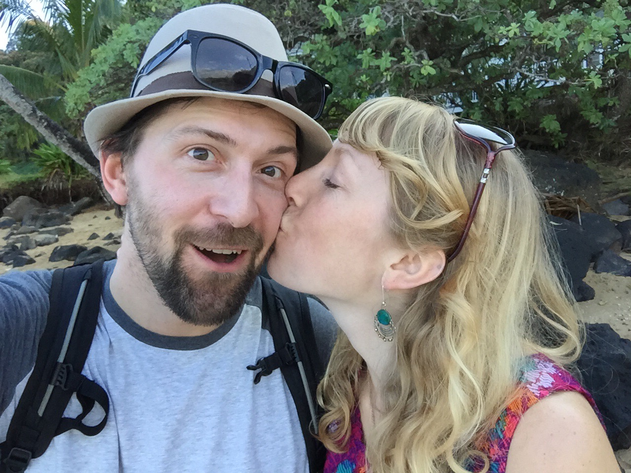
{"label": "dark red-framed sunglasses pushed up on the woman's blonde hair", "polygon": [[[447,262],[453,260],[460,253],[460,250],[463,249],[464,240],[466,240],[467,235],[469,235],[471,223],[473,223],[473,218],[478,211],[480,197],[482,196],[482,191],[487,184],[488,173],[491,171],[495,157],[500,153],[500,151],[513,149],[517,146],[515,143],[515,137],[501,128],[487,127],[476,124],[476,122],[473,122],[472,120],[460,118],[454,119],[454,125],[456,126],[457,131],[459,131],[466,139],[480,144],[480,146],[487,149],[487,160],[484,163],[484,170],[482,171],[482,176],[480,177],[480,183],[478,184],[478,189],[476,189],[475,197],[473,197],[473,202],[471,203],[471,209],[469,210],[469,216],[467,217],[466,224],[464,225],[463,235],[460,237],[460,241],[458,242],[456,249],[451,255],[449,255],[449,257],[447,257]],[[491,143],[495,143],[500,146],[499,148],[493,150]]]}

